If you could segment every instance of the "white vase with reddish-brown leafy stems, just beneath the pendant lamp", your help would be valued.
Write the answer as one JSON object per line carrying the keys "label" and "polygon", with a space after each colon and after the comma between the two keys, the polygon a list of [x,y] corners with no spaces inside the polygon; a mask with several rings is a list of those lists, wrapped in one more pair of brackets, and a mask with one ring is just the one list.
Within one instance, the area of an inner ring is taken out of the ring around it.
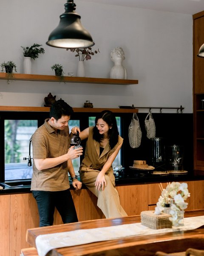
{"label": "white vase with reddish-brown leafy stems, just beneath the pendant lamp", "polygon": [[83,61],[91,60],[91,56],[93,56],[94,54],[97,54],[99,52],[99,49],[92,51],[92,48],[88,47],[88,48],[67,48],[67,51],[68,50],[70,50],[71,52],[76,52],[77,54],[75,55],[75,57],[79,57],[77,76],[81,76],[81,77],[85,76]]}

